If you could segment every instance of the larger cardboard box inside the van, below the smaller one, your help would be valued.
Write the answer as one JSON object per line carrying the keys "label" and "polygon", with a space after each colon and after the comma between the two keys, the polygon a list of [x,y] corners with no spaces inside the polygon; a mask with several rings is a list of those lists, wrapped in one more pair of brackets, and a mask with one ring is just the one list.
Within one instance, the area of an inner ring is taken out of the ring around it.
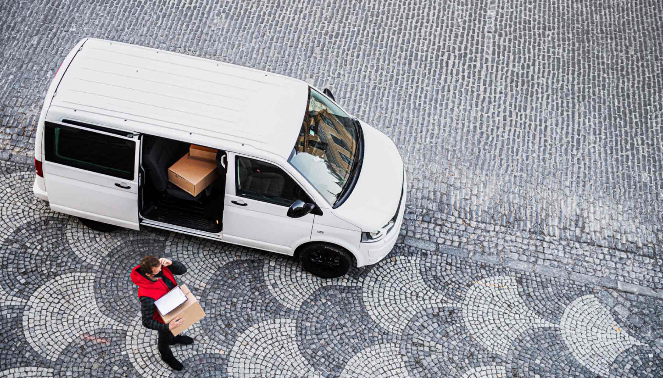
{"label": "larger cardboard box inside the van, below the smaller one", "polygon": [[168,168],[168,181],[194,197],[205,190],[218,176],[219,172],[213,160],[194,158],[190,154],[184,155]]}

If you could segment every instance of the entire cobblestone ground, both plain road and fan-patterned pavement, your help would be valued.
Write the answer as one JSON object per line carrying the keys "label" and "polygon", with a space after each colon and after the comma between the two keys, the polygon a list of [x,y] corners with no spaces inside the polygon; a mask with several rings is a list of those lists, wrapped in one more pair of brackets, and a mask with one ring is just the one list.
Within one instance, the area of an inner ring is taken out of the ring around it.
{"label": "entire cobblestone ground, both plain road and fan-patterned pavement", "polygon": [[[123,273],[145,251],[188,265],[208,311],[199,342],[176,351],[192,376],[663,374],[660,1],[0,12],[0,376],[168,375]],[[286,257],[152,229],[100,235],[50,212],[25,163],[48,82],[85,36],[332,88],[404,157],[401,242],[319,281]]]}

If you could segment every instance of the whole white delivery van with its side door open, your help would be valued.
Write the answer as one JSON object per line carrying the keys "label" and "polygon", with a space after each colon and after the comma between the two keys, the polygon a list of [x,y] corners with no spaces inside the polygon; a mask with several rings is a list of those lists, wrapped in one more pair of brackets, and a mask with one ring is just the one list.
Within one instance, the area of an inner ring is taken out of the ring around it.
{"label": "whole white delivery van with its side door open", "polygon": [[[208,154],[204,188],[172,172],[198,158],[194,147]],[[158,227],[294,255],[320,277],[385,257],[406,202],[394,143],[329,90],[94,38],[48,88],[34,165],[34,194],[93,229]]]}

